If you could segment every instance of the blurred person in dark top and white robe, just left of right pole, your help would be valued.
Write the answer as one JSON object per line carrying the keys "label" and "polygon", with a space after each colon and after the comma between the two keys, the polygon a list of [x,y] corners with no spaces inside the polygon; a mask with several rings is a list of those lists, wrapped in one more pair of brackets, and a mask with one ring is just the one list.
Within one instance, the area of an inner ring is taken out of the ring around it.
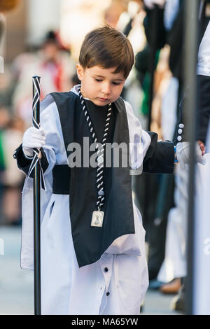
{"label": "blurred person in dark top and white robe, just left of right pole", "polygon": [[[162,99],[162,132],[164,139],[174,139],[175,142],[182,140],[183,123],[179,118],[180,108],[179,103],[183,97],[183,5],[182,0],[167,0],[160,1],[145,1],[145,3],[151,3],[151,10],[154,6],[159,6],[158,10],[162,12],[162,18],[160,19],[160,25],[165,30],[162,33],[163,44],[167,43],[170,46],[169,55],[169,68],[172,72],[172,77],[169,80],[167,91]],[[156,7],[157,10],[157,7]],[[148,33],[148,32],[147,32]],[[169,111],[170,109],[170,111]],[[174,137],[173,137],[174,136]],[[187,167],[187,166],[186,166]],[[185,247],[186,247],[186,193],[187,193],[187,170],[183,172],[183,169],[178,165],[174,172],[175,188],[170,189],[170,193],[167,193],[167,202],[165,197],[160,199],[158,207],[165,209],[165,204],[169,204],[167,216],[165,216],[165,233],[162,232],[163,241],[165,242],[162,247],[162,257],[158,258],[158,248],[155,246],[155,239],[153,244],[153,261],[151,261],[151,270],[153,270],[154,286],[160,287],[163,293],[177,293],[181,288],[181,276],[186,273],[185,262]],[[172,177],[168,178],[168,181],[163,182],[167,186],[174,186]],[[167,189],[165,189],[167,190]],[[173,198],[174,190],[174,198]],[[166,196],[166,195],[165,195]],[[174,205],[173,205],[174,199]],[[178,200],[178,201],[177,201]],[[181,202],[179,202],[181,200]],[[159,224],[158,224],[159,221]],[[158,233],[158,226],[163,221],[157,216],[154,221],[154,232],[156,230],[157,239],[160,235]],[[156,223],[156,225],[155,225]],[[156,229],[155,229],[156,227]],[[167,232],[166,232],[167,228]],[[165,241],[166,238],[166,241]],[[158,242],[160,244],[160,242]],[[174,248],[176,245],[176,248]],[[156,251],[155,251],[156,249]],[[157,261],[158,260],[158,261]],[[160,261],[161,260],[161,261]],[[150,262],[149,262],[150,264]],[[158,280],[156,279],[158,276]],[[163,284],[166,283],[166,284]]]}

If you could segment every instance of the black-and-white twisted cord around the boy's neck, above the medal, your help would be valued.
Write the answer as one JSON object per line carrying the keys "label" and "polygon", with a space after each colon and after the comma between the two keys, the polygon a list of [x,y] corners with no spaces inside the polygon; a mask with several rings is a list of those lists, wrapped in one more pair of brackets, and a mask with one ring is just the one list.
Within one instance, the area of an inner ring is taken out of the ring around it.
{"label": "black-and-white twisted cord around the boy's neck, above the medal", "polygon": [[107,116],[106,116],[106,123],[104,127],[104,134],[102,138],[102,147],[99,147],[98,141],[97,141],[97,136],[94,132],[92,122],[90,120],[90,115],[87,112],[86,106],[85,106],[85,101],[83,99],[83,95],[80,92],[80,87],[78,87],[78,95],[80,97],[80,102],[83,106],[83,113],[85,116],[85,119],[87,121],[87,125],[90,129],[90,134],[92,134],[92,139],[96,145],[97,149],[97,176],[96,176],[96,183],[97,183],[97,192],[98,192],[98,197],[97,197],[97,208],[100,211],[101,207],[104,205],[104,200],[105,200],[105,193],[104,193],[104,147],[106,146],[106,139],[107,139],[107,134],[109,132],[109,123],[111,119],[111,103],[109,103],[108,111],[107,111]]}

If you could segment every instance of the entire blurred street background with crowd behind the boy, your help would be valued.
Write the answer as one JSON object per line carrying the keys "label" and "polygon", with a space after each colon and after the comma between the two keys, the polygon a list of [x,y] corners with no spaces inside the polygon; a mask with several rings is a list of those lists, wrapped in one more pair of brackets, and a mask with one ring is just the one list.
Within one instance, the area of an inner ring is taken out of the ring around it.
{"label": "entire blurred street background with crowd behind the boy", "polygon": [[[107,22],[130,38],[136,57],[123,98],[145,130],[157,132],[162,140],[176,139],[183,93],[183,1],[162,1],[155,18],[147,3],[0,0],[0,314],[34,311],[33,274],[20,269],[25,176],[13,159],[31,125],[32,76],[41,76],[41,99],[49,92],[70,90],[78,83],[76,63],[85,34]],[[181,190],[177,180],[183,182]],[[179,166],[174,175],[133,177],[135,202],[146,228],[150,276],[143,314],[184,311],[176,294],[186,276],[186,188],[186,174]]]}

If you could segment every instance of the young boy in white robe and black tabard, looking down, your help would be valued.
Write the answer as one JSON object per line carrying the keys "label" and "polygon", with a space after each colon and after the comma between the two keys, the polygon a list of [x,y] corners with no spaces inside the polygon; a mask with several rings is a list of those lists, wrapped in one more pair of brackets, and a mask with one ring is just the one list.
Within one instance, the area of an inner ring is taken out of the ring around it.
{"label": "young boy in white robe and black tabard, looking down", "polygon": [[[148,271],[130,169],[172,173],[174,144],[144,132],[120,98],[133,63],[122,33],[109,26],[90,31],[77,65],[81,85],[45,97],[41,129],[29,128],[15,151],[26,174],[33,148],[42,153],[42,314],[139,314]],[[90,153],[87,142],[94,143]],[[105,153],[109,144],[111,158]],[[118,146],[124,160],[130,153],[130,165],[113,159]],[[87,164],[95,152],[96,165]],[[24,269],[33,269],[32,186],[29,177],[22,194]]]}

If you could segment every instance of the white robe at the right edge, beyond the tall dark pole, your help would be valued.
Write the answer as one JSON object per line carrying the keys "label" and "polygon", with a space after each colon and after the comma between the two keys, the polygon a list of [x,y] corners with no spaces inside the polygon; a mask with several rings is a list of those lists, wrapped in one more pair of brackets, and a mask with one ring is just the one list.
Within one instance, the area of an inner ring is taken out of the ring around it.
{"label": "white robe at the right edge, beyond the tall dark pole", "polygon": [[197,165],[195,195],[195,239],[193,314],[210,314],[210,125],[207,135],[207,164]]}

